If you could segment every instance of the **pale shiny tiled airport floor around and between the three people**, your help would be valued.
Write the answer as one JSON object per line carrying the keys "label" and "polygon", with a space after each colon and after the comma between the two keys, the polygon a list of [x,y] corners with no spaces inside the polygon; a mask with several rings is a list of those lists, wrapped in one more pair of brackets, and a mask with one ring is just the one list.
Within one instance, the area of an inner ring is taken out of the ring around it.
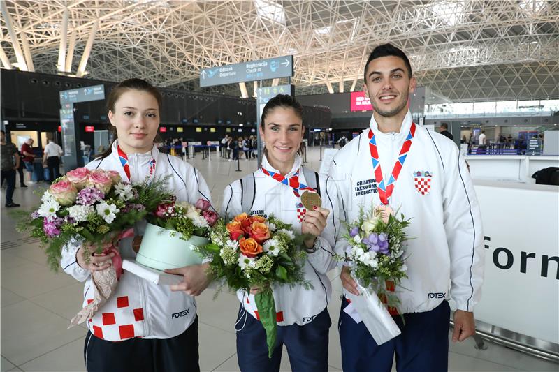
{"label": "pale shiny tiled airport floor around and between the three people", "polygon": [[[319,153],[310,151],[307,165],[319,169]],[[197,156],[190,161],[201,170],[212,191],[212,199],[220,206],[222,191],[233,179],[256,168],[256,161],[237,164],[212,155],[210,160]],[[17,188],[15,202],[31,209],[38,202],[34,191],[45,184]],[[2,191],[3,198],[3,191]],[[2,200],[3,206],[3,200]],[[22,241],[23,239],[23,241]],[[33,239],[15,232],[15,221],[1,207],[1,371],[85,371],[83,364],[84,327],[67,329],[70,318],[79,310],[82,284],[66,274],[53,274],[45,256]],[[340,313],[340,281],[337,272],[330,274],[333,296],[328,306],[331,327],[331,371],[341,370],[340,341],[337,317]],[[214,290],[206,290],[198,298],[200,316],[200,366],[202,371],[238,371],[233,325],[238,300],[222,292],[213,300]],[[545,362],[521,352],[488,343],[488,349],[476,350],[471,339],[451,345],[451,371],[558,371],[558,364]],[[282,371],[289,371],[284,352]]]}

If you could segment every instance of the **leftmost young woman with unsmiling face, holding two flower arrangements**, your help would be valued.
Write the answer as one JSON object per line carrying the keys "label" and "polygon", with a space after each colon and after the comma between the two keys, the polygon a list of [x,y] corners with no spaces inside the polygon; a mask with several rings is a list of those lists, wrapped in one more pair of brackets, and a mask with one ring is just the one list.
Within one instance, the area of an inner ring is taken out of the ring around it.
{"label": "leftmost young woman with unsmiling face, holding two flower arrangements", "polygon": [[[161,112],[157,89],[145,80],[125,80],[110,92],[108,110],[115,140],[108,151],[86,165],[87,170],[116,171],[134,184],[165,179],[177,202],[195,204],[200,198],[210,202],[210,190],[198,170],[154,146]],[[87,170],[81,169],[73,172],[73,181],[86,177]],[[134,227],[135,237],[120,241],[123,258],[135,257],[144,229],[145,221]],[[92,271],[109,268],[115,253],[85,257],[81,241],[66,248],[61,267],[85,281],[83,306],[87,306],[95,292]],[[87,370],[199,371],[198,318],[192,296],[207,287],[206,268],[194,265],[169,271],[184,276],[182,283],[170,287],[124,272],[115,292],[87,322]]]}

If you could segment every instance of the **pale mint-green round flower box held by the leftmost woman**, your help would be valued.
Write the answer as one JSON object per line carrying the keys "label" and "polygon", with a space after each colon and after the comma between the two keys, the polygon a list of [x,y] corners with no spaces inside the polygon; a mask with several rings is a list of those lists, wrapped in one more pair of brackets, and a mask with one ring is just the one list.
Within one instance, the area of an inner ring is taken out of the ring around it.
{"label": "pale mint-green round flower box held by the leftmost woman", "polygon": [[[175,236],[172,235],[173,232]],[[161,271],[201,264],[201,255],[193,251],[192,248],[208,244],[209,240],[192,235],[190,239],[185,241],[180,239],[179,236],[179,232],[166,230],[148,223],[142,238],[142,244],[140,244],[140,250],[136,255],[136,262]]]}

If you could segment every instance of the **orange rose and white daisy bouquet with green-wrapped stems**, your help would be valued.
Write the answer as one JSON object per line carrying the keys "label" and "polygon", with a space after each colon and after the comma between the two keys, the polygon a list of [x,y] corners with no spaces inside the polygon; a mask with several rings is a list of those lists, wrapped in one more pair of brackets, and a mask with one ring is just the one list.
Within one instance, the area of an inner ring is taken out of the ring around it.
{"label": "orange rose and white daisy bouquet with green-wrapped stems", "polygon": [[242,213],[229,223],[217,221],[210,230],[210,241],[198,251],[211,260],[210,271],[218,281],[233,291],[262,288],[254,299],[271,357],[277,334],[273,285],[302,284],[310,289],[303,274],[306,252],[299,248],[303,236],[272,216]]}

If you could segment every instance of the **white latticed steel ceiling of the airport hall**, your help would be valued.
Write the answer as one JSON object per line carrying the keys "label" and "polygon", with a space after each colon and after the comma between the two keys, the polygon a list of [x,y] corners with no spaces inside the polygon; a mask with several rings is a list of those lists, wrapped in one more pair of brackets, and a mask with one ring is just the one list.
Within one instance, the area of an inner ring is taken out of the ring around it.
{"label": "white latticed steel ceiling of the airport hall", "polygon": [[[312,94],[361,89],[368,53],[391,42],[407,52],[419,84],[452,101],[559,98],[557,0],[12,0],[1,6],[4,68],[110,81],[145,77],[160,87],[198,89],[201,68],[293,54],[297,93]],[[80,64],[89,49],[87,64]],[[222,89],[240,94],[238,85]]]}

